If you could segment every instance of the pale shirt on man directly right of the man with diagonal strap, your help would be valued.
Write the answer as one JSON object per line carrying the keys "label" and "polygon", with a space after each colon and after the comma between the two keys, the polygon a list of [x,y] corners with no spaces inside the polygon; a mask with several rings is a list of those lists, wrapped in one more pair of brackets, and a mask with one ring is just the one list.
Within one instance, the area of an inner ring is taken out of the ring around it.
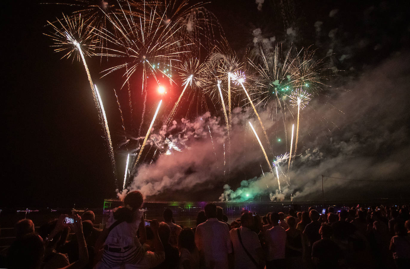
{"label": "pale shirt on man directly right of the man with diagonal strap", "polygon": [[265,233],[268,243],[267,261],[285,259],[286,231],[279,225],[273,226]]}

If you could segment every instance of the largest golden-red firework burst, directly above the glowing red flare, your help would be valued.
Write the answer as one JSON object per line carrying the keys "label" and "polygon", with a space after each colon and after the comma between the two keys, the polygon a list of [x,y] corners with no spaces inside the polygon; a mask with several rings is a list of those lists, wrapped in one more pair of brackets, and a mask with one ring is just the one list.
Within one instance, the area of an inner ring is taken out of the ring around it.
{"label": "largest golden-red firework burst, directly above the glowing red flare", "polygon": [[145,2],[142,14],[131,6],[128,6],[128,9],[123,7],[119,14],[116,14],[115,20],[109,18],[114,30],[95,29],[96,35],[112,45],[107,48],[107,53],[102,55],[125,58],[125,63],[103,71],[103,76],[125,69],[123,87],[130,77],[142,68],[142,92],[148,73],[153,75],[156,81],[157,73],[162,73],[172,80],[170,73],[159,68],[157,63],[174,66],[175,62],[180,61],[180,55],[188,51],[184,49],[186,45],[182,45],[182,40],[176,36],[180,30],[178,25],[162,23],[166,16],[158,12],[157,5],[146,5]]}

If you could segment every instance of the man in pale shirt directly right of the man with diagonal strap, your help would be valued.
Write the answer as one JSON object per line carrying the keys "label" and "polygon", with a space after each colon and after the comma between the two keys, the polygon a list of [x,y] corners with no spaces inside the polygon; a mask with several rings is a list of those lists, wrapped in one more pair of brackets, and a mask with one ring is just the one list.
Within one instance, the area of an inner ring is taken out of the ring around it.
{"label": "man in pale shirt directly right of the man with diagonal strap", "polygon": [[271,214],[272,228],[266,231],[265,240],[268,245],[266,269],[285,269],[286,231],[279,226],[279,214]]}

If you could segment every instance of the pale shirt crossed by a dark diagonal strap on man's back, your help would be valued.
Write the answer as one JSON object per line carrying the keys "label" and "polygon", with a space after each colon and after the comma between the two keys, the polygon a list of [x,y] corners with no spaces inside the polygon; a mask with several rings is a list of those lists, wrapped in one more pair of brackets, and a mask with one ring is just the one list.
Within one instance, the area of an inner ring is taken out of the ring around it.
{"label": "pale shirt crossed by a dark diagonal strap on man's back", "polygon": [[235,253],[235,269],[252,269],[257,268],[256,265],[252,262],[251,258],[249,258],[248,254],[244,251],[241,242],[239,241],[238,237],[238,229],[241,233],[242,243],[244,247],[251,254],[252,258],[256,262],[260,262],[256,249],[262,248],[259,242],[259,238],[257,234],[251,231],[249,228],[241,226],[240,228],[235,228],[230,230],[230,239],[233,245],[233,251]]}

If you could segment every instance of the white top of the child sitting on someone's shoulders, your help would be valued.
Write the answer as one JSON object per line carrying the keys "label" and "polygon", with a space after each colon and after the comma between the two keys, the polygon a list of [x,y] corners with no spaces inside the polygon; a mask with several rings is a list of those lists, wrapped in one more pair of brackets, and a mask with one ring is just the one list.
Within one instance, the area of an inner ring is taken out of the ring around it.
{"label": "white top of the child sitting on someone's shoulders", "polygon": [[[131,223],[123,221],[115,226],[107,236],[107,239],[105,239],[104,245],[109,245],[111,247],[134,245],[134,240],[137,237],[138,226],[139,223],[141,223],[142,214],[142,211],[137,210],[134,212],[134,221]],[[110,212],[109,219],[107,220],[105,227],[109,228],[114,222],[116,222],[116,219],[114,219],[113,212]]]}

